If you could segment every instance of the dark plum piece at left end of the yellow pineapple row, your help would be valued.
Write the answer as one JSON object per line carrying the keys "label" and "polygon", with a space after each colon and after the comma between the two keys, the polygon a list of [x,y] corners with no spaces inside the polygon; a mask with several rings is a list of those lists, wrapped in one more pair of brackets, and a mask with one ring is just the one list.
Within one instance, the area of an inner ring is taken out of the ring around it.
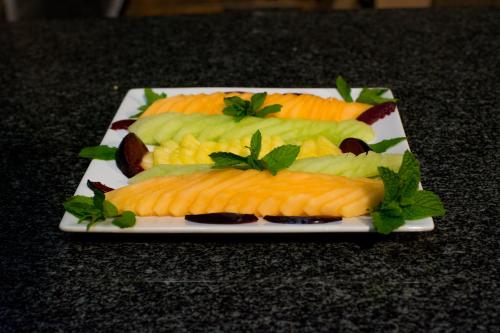
{"label": "dark plum piece at left end of the yellow pineapple row", "polygon": [[144,169],[142,158],[148,152],[146,145],[134,133],[127,134],[116,153],[116,165],[127,177],[133,177]]}

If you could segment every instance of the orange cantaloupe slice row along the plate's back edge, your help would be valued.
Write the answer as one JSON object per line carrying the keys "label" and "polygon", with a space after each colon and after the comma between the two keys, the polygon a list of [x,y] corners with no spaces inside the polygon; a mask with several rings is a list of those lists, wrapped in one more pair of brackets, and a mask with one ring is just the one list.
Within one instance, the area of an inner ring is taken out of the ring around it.
{"label": "orange cantaloupe slice row along the plate's back edge", "polygon": [[[224,98],[238,96],[250,100],[252,93],[213,93],[176,95],[154,102],[141,117],[164,112],[221,114]],[[267,117],[342,121],[356,119],[371,105],[348,103],[336,98],[322,98],[309,94],[268,94],[262,107],[282,105],[281,111]]]}

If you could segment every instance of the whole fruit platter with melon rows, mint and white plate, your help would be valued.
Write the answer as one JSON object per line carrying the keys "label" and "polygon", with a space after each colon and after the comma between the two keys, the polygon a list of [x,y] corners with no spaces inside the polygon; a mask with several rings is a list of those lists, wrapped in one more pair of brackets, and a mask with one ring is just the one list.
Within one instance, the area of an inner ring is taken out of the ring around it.
{"label": "whole fruit platter with melon rows, mint and white plate", "polygon": [[125,96],[60,229],[116,233],[430,231],[387,88],[145,88]]}

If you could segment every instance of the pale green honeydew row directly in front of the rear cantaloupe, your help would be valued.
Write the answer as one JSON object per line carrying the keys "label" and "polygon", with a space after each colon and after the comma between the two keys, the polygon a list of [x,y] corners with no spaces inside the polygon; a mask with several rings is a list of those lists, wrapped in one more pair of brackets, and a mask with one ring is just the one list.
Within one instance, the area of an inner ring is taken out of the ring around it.
{"label": "pale green honeydew row directly in front of the rear cantaloupe", "polygon": [[262,136],[279,136],[286,143],[301,142],[323,136],[339,145],[345,138],[370,142],[373,129],[357,120],[328,122],[303,119],[277,119],[247,117],[235,122],[226,115],[182,114],[168,112],[141,118],[129,127],[146,144],[180,142],[191,134],[199,141],[220,141],[251,137],[257,130]]}

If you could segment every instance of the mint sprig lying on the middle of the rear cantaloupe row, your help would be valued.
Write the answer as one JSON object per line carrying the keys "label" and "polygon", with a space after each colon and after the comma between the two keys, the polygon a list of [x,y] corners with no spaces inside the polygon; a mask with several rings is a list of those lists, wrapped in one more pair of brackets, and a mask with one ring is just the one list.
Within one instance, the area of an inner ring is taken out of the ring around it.
{"label": "mint sprig lying on the middle of the rear cantaloupe row", "polygon": [[267,93],[258,93],[252,95],[249,101],[246,101],[238,96],[224,98],[225,107],[222,110],[227,116],[234,117],[236,122],[241,121],[245,117],[260,117],[281,111],[281,105],[272,104],[261,108],[267,97]]}

